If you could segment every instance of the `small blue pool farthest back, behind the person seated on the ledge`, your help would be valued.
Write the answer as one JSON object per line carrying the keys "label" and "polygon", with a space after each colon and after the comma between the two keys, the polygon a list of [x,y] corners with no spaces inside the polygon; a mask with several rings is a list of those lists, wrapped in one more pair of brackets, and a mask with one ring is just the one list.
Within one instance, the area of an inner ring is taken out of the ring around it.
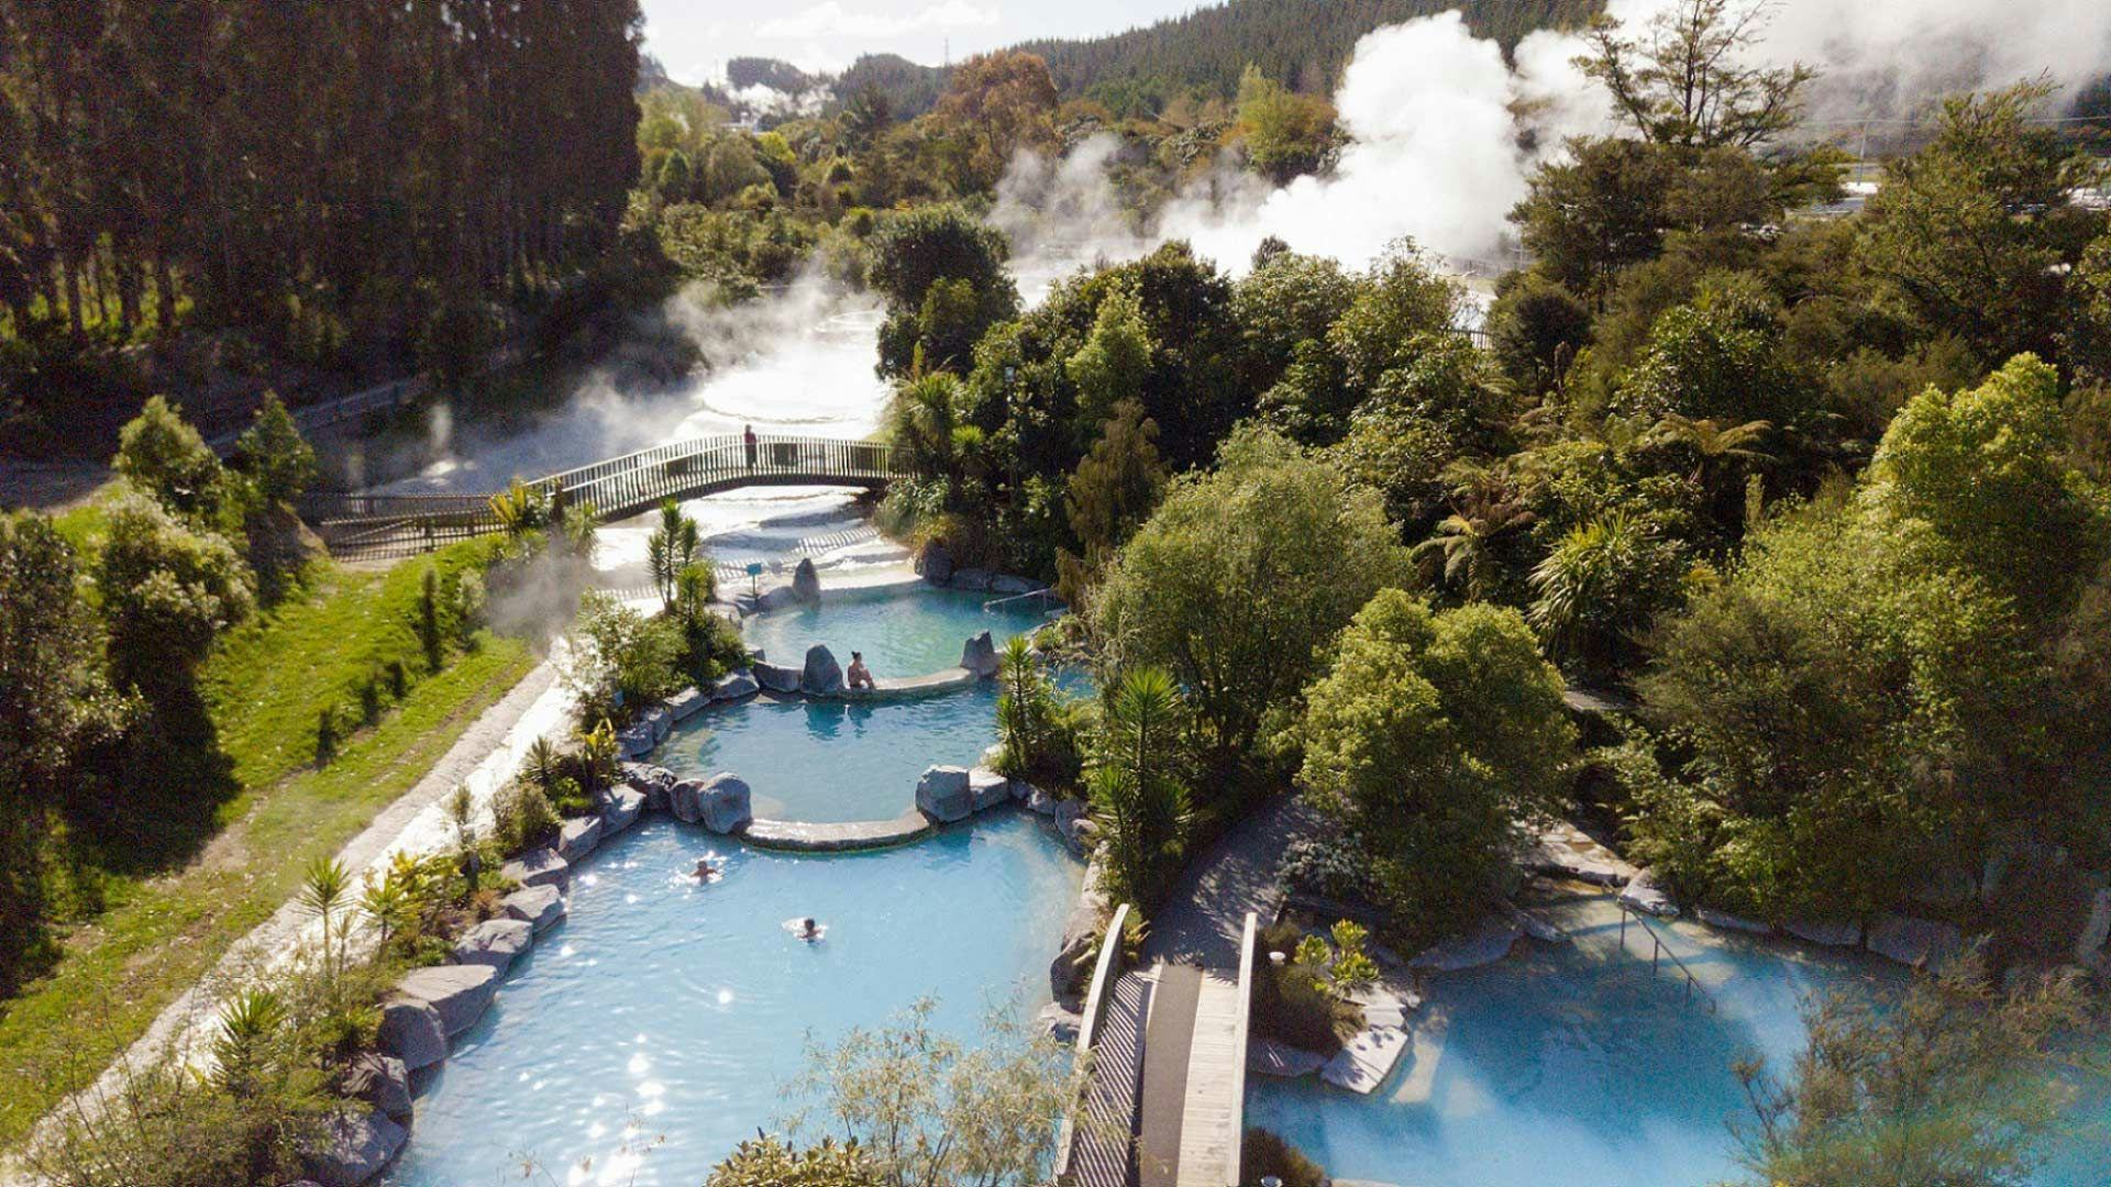
{"label": "small blue pool farthest back, behind the person seated on the ledge", "polygon": [[990,632],[996,646],[1003,646],[1007,638],[1045,621],[1045,598],[982,608],[996,598],[1003,594],[920,589],[899,598],[855,600],[823,589],[819,606],[756,615],[741,623],[741,634],[771,663],[787,667],[804,663],[806,648],[821,642],[844,667],[851,665],[853,651],[866,653],[866,665],[882,680],[929,676],[958,665],[961,644],[973,634]]}

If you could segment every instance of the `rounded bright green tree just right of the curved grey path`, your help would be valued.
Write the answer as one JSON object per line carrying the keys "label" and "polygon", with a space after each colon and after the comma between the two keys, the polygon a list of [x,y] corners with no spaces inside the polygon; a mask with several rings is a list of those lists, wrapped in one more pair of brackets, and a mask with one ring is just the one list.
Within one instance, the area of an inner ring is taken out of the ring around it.
{"label": "rounded bright green tree just right of the curved grey path", "polygon": [[1562,798],[1575,731],[1516,610],[1383,589],[1307,689],[1298,739],[1298,784],[1376,862],[1393,929],[1425,944],[1501,893],[1518,824]]}

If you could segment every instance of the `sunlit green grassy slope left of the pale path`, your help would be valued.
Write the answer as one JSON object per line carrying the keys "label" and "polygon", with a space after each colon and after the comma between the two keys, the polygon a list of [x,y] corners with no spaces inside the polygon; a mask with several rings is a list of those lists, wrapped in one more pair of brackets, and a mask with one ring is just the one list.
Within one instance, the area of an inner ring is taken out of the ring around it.
{"label": "sunlit green grassy slope left of the pale path", "polygon": [[[443,553],[469,564],[473,553]],[[422,562],[388,572],[323,566],[266,619],[224,640],[203,691],[241,790],[222,832],[179,870],[108,877],[106,910],[65,940],[42,980],[0,1003],[0,1147],[91,1081],[226,948],[291,898],[304,868],[334,853],[448,752],[462,727],[534,667],[517,640],[481,638],[424,676],[410,627]],[[312,767],[325,705],[388,659],[416,680],[374,729]]]}

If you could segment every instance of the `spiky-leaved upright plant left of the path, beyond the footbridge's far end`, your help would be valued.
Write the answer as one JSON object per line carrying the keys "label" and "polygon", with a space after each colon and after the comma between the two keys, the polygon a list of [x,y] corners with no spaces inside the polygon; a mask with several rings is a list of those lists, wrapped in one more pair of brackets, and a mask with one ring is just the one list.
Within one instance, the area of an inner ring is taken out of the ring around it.
{"label": "spiky-leaved upright plant left of the path, beyond the footbridge's far end", "polygon": [[1180,684],[1163,667],[1129,670],[1106,699],[1106,737],[1087,775],[1106,872],[1129,900],[1150,898],[1191,822],[1178,775]]}

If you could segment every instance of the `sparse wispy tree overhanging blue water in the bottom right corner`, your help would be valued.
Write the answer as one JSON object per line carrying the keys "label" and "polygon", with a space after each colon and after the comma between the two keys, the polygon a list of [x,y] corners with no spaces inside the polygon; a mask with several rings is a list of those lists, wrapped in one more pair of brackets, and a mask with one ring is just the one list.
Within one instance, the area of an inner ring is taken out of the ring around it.
{"label": "sparse wispy tree overhanging blue water in the bottom right corner", "polygon": [[2046,1058],[2084,1018],[2073,980],[2005,993],[1978,957],[1902,993],[1815,1001],[1786,1084],[1739,1067],[1739,1162],[1754,1187],[2031,1183],[2069,1098]]}

